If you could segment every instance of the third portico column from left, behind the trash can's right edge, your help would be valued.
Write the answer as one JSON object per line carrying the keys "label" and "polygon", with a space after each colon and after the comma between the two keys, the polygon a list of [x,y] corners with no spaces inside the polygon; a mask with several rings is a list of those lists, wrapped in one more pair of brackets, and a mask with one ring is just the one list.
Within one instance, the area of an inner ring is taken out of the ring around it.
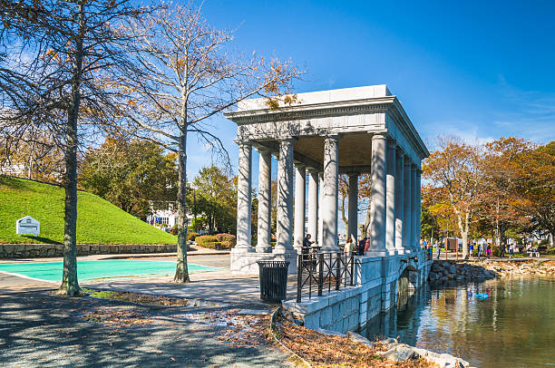
{"label": "third portico column from left, behind the trash can's right edge", "polygon": [[293,140],[279,142],[277,243],[274,253],[295,253],[293,248]]}

